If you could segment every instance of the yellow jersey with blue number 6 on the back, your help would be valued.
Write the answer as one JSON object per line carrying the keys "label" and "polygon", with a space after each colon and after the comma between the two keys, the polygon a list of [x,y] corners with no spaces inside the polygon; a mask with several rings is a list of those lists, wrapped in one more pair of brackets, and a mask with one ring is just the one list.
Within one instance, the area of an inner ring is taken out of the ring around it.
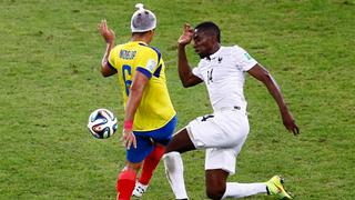
{"label": "yellow jersey with blue number 6 on the back", "polygon": [[162,128],[176,114],[168,92],[164,61],[158,49],[142,41],[119,44],[110,52],[109,66],[118,72],[124,108],[135,72],[149,78],[134,116],[134,131]]}

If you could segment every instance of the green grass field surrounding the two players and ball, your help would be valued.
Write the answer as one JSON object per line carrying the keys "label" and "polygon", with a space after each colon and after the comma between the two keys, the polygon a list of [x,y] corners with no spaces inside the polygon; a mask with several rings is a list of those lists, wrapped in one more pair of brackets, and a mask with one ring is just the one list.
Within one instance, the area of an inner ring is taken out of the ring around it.
{"label": "green grass field surrounding the two players and ball", "polygon": [[[251,132],[230,180],[281,173],[296,199],[354,199],[354,0],[143,2],[159,19],[152,44],[168,66],[179,128],[212,111],[204,86],[184,89],[178,78],[175,46],[184,22],[216,22],[222,43],[248,50],[282,88],[301,136],[284,129],[265,87],[248,77]],[[121,133],[97,140],[87,120],[108,108],[122,127],[120,88],[100,74],[104,43],[97,27],[106,19],[116,41],[128,41],[135,3],[0,0],[0,199],[115,198],[125,159]],[[196,64],[197,56],[189,53]],[[204,153],[183,159],[190,198],[206,199]],[[173,198],[161,163],[142,199]]]}

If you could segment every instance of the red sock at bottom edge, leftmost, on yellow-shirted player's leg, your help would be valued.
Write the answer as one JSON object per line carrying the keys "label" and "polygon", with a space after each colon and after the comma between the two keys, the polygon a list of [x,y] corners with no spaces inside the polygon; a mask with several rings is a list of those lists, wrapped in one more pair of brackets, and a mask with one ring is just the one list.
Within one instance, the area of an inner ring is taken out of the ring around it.
{"label": "red sock at bottom edge, leftmost, on yellow-shirted player's leg", "polygon": [[121,171],[116,182],[118,200],[130,200],[135,186],[136,172],[130,169]]}

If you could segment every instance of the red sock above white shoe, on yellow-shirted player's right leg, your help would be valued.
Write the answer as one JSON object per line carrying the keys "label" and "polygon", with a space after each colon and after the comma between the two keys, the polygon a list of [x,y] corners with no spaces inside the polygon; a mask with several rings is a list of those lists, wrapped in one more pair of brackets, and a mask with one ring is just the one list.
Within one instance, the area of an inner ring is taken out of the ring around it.
{"label": "red sock above white shoe, on yellow-shirted player's right leg", "polygon": [[153,171],[165,152],[165,147],[155,146],[153,151],[144,159],[140,183],[148,184],[153,176]]}

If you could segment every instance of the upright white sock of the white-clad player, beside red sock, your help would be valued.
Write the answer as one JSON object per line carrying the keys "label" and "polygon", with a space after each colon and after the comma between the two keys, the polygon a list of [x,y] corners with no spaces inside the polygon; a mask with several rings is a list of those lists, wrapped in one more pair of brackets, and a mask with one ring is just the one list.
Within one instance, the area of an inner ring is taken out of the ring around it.
{"label": "upright white sock of the white-clad player, beside red sock", "polygon": [[176,199],[187,199],[184,182],[184,166],[179,152],[173,151],[163,156],[165,173]]}

